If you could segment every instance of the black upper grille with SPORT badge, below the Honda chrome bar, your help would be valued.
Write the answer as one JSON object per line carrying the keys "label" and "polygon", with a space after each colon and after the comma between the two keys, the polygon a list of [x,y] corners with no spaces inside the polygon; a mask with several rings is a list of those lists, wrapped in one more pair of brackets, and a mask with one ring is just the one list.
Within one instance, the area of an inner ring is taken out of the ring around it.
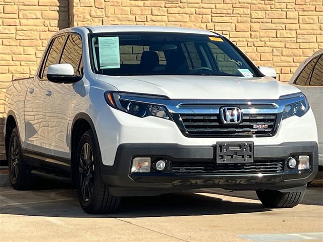
{"label": "black upper grille with SPORT badge, below the Honda chrome bar", "polygon": [[184,135],[193,137],[271,136],[276,121],[276,114],[243,114],[238,125],[223,124],[219,114],[179,114],[179,117]]}

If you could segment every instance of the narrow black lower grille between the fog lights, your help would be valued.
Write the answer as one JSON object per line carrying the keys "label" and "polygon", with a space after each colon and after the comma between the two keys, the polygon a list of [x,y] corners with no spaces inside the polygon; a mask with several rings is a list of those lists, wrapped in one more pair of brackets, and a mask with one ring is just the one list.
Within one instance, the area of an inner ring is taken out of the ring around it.
{"label": "narrow black lower grille between the fog lights", "polygon": [[284,160],[255,160],[253,163],[173,162],[173,172],[181,175],[282,173]]}

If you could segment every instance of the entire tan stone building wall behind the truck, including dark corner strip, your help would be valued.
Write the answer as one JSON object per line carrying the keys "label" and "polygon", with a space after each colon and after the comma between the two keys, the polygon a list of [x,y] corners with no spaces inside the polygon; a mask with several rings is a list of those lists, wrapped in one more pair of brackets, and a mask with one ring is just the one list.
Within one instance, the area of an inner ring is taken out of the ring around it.
{"label": "entire tan stone building wall behind the truck, including dark corner strip", "polygon": [[281,81],[323,48],[323,0],[0,0],[0,160],[8,83],[34,75],[56,31],[102,24],[216,31],[256,65],[274,67]]}

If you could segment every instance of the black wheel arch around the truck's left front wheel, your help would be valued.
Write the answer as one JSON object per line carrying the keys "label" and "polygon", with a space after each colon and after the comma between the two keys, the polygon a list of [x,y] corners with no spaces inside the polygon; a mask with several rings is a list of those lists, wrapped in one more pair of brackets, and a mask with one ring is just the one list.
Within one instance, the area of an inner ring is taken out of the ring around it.
{"label": "black wheel arch around the truck's left front wheel", "polygon": [[[92,122],[91,117],[84,112],[78,113],[77,115],[75,115],[73,119],[72,128],[71,128],[71,175],[72,175],[73,181],[75,180],[75,161],[76,161],[75,157],[77,154],[78,144],[81,140],[82,135],[87,130],[92,130],[96,145],[98,146],[98,149],[101,152],[100,145],[95,131],[95,126]],[[101,156],[101,154],[99,155]]]}

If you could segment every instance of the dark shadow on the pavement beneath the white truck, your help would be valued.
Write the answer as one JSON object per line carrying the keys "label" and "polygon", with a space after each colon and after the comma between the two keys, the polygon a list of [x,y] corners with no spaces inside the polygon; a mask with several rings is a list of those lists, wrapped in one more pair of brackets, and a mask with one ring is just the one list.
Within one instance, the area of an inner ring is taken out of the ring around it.
{"label": "dark shadow on the pavement beneath the white truck", "polygon": [[[41,189],[41,190],[40,190]],[[230,199],[183,192],[156,197],[126,197],[118,213],[89,215],[78,203],[74,187],[55,182],[43,184],[34,191],[0,188],[0,213],[51,217],[161,217],[221,215],[270,211],[259,203],[233,202]]]}

